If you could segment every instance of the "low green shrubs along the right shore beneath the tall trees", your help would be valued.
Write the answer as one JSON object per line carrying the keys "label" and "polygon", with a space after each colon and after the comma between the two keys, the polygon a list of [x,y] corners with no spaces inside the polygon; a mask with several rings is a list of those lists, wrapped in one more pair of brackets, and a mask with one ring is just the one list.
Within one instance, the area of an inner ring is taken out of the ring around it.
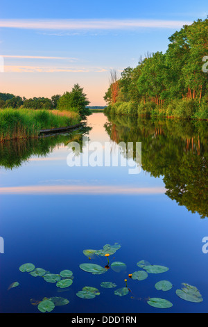
{"label": "low green shrubs along the right shore beneath the tall trees", "polygon": [[141,115],[157,118],[184,118],[208,120],[208,101],[199,103],[194,99],[173,100],[171,103],[158,106],[155,102],[116,102],[105,109],[106,113],[116,115]]}

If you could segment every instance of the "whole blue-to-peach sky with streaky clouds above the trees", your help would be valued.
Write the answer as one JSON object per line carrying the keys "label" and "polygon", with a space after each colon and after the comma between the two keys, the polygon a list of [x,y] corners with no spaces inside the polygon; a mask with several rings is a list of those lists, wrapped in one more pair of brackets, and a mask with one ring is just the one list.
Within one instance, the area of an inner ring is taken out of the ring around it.
{"label": "whole blue-to-peach sky with streaky clouds above the trees", "polygon": [[79,83],[92,106],[105,105],[111,69],[165,52],[175,31],[208,13],[207,0],[0,2],[0,92],[51,97]]}

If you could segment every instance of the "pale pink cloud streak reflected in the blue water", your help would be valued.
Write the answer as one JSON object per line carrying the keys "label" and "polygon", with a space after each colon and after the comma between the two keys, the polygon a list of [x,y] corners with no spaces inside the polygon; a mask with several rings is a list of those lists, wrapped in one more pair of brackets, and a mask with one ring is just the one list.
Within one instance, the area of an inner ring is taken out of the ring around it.
{"label": "pale pink cloud streak reflected in the blue water", "polygon": [[27,195],[46,195],[46,194],[93,194],[93,195],[107,195],[107,194],[123,194],[123,195],[151,195],[164,194],[166,189],[163,187],[144,187],[137,188],[122,185],[52,185],[52,186],[14,186],[14,187],[0,187],[0,194],[27,194]]}

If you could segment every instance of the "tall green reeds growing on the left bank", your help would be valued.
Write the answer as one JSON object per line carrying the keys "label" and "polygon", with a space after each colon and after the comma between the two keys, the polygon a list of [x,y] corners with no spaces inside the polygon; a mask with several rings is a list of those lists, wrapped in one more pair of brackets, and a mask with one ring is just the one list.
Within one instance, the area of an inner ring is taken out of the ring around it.
{"label": "tall green reeds growing on the left bank", "polygon": [[0,141],[37,137],[40,129],[76,125],[78,113],[30,109],[0,110]]}

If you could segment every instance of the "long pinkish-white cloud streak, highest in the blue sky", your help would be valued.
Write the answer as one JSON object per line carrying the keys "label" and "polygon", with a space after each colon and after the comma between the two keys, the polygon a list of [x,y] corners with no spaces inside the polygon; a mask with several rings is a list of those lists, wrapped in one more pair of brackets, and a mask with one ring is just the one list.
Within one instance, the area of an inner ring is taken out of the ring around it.
{"label": "long pinkish-white cloud streak, highest in the blue sky", "polygon": [[192,24],[184,20],[163,19],[1,19],[0,27],[12,29],[39,30],[123,30],[138,28],[177,29],[184,24]]}

